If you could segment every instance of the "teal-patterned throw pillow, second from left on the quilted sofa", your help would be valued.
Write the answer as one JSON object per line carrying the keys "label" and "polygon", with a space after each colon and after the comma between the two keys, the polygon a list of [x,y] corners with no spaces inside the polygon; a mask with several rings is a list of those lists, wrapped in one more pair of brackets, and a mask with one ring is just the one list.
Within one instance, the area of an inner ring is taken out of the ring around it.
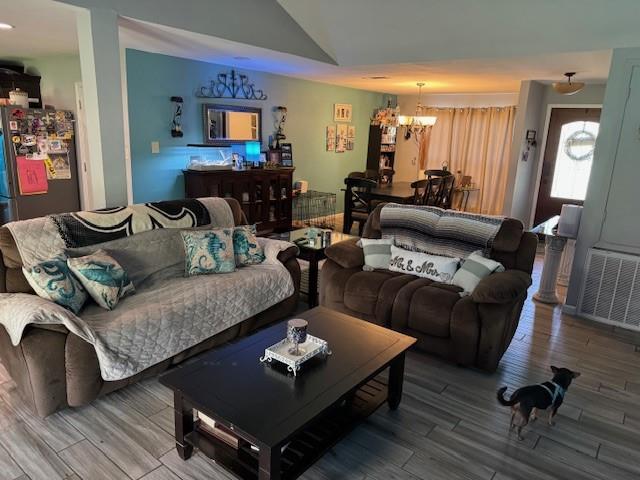
{"label": "teal-patterned throw pillow, second from left on the quilted sofa", "polygon": [[116,308],[121,298],[135,291],[125,269],[104,250],[69,258],[67,265],[91,298],[107,310]]}

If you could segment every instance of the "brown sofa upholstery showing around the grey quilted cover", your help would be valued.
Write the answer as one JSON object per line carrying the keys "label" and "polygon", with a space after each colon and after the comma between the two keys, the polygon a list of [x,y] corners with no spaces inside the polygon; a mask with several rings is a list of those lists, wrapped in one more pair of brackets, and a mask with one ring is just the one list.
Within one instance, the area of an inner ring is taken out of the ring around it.
{"label": "brown sofa upholstery showing around the grey quilted cover", "polygon": [[[240,204],[234,199],[225,200],[231,206],[235,224],[246,224]],[[20,254],[6,227],[0,227],[0,252],[0,293],[34,293],[22,274]],[[101,395],[157,375],[200,352],[291,315],[297,306],[300,287],[296,256],[297,247],[278,255],[291,273],[295,285],[292,296],[133,377],[104,381],[94,347],[62,325],[31,325],[17,347],[0,326],[0,359],[23,399],[38,415],[44,417],[67,406],[86,405]]]}

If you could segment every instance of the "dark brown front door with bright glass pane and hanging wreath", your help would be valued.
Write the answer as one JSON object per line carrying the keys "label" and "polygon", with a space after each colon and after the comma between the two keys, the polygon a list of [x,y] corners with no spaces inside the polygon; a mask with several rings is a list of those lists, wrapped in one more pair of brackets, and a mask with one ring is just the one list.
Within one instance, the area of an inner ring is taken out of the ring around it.
{"label": "dark brown front door with bright glass pane and hanging wreath", "polygon": [[599,108],[551,110],[534,225],[559,215],[565,203],[583,204],[599,127]]}

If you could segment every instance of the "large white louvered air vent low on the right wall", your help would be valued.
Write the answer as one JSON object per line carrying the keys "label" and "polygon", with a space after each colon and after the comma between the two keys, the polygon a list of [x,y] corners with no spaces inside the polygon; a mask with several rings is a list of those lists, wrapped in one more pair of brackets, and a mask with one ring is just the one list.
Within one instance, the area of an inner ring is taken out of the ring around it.
{"label": "large white louvered air vent low on the right wall", "polygon": [[589,250],[578,314],[640,330],[640,256]]}

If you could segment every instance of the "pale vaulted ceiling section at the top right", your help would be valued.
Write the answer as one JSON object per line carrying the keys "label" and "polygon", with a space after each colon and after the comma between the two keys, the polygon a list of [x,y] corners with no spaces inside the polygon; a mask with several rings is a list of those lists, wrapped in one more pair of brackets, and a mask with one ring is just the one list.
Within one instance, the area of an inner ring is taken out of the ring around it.
{"label": "pale vaulted ceiling section at the top right", "polygon": [[278,0],[338,65],[640,46],[638,0]]}

